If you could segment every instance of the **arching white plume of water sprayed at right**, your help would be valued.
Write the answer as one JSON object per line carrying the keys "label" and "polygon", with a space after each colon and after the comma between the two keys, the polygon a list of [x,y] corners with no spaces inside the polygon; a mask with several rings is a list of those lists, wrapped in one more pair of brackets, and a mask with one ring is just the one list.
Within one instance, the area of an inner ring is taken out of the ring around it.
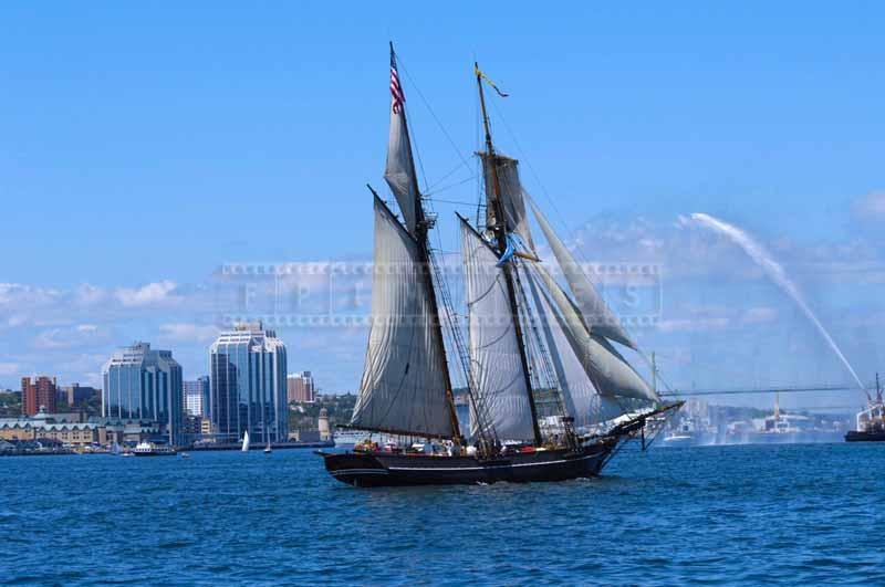
{"label": "arching white plume of water sprayed at right", "polygon": [[836,345],[835,340],[833,340],[833,337],[830,336],[830,333],[826,332],[826,328],[824,328],[823,324],[821,324],[821,321],[818,319],[818,316],[814,315],[814,312],[812,312],[809,305],[805,303],[805,300],[802,297],[799,287],[796,287],[792,281],[790,281],[790,277],[787,276],[787,272],[783,271],[783,268],[780,265],[780,263],[774,261],[764,247],[754,241],[752,237],[739,228],[731,226],[728,222],[722,222],[721,220],[711,216],[694,213],[691,214],[691,220],[708,230],[727,237],[731,242],[740,247],[740,249],[743,250],[743,252],[747,253],[750,259],[752,259],[760,268],[762,268],[762,271],[766,273],[766,275],[768,275],[768,277],[774,282],[778,287],[783,290],[787,295],[789,295],[790,298],[795,302],[805,317],[808,317],[809,321],[814,324],[814,326],[818,328],[818,332],[821,333],[821,336],[823,336],[824,340],[826,340],[826,344],[830,345],[830,348],[833,349],[833,353],[835,353],[851,376],[854,377],[854,380],[857,382],[857,387],[865,389],[860,377],[857,377],[857,374],[854,373],[851,364],[845,358],[845,355],[843,355],[842,350],[840,350],[839,345]]}

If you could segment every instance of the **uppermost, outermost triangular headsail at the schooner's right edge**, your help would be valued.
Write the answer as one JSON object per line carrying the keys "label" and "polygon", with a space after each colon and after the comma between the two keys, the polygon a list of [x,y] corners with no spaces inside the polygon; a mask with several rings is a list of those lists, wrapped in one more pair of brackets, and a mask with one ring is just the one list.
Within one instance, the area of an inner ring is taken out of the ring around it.
{"label": "uppermost, outermost triangular headsail at the schooner's right edge", "polygon": [[546,217],[541,212],[538,206],[530,201],[534,217],[538,219],[538,224],[544,233],[550,248],[553,250],[553,255],[562,268],[565,274],[565,280],[569,282],[569,287],[574,293],[577,301],[577,307],[581,310],[581,317],[584,319],[585,325],[591,333],[604,336],[611,340],[621,343],[633,349],[637,349],[636,343],[621,326],[621,321],[605,303],[600,292],[590,282],[586,274],[581,270],[581,266],[575,262],[571,251],[562,243],[553,228],[548,222]]}

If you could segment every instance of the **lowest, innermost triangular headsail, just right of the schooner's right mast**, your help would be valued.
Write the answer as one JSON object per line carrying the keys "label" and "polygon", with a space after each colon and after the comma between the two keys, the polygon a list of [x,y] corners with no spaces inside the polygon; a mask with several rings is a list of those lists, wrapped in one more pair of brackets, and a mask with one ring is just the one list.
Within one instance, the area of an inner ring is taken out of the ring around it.
{"label": "lowest, innermost triangular headsail, just right of the schooner's right mast", "polygon": [[593,386],[581,360],[563,331],[562,318],[548,301],[532,271],[525,271],[544,343],[565,401],[565,410],[576,427],[586,427],[617,418],[626,410],[617,398],[601,395]]}

